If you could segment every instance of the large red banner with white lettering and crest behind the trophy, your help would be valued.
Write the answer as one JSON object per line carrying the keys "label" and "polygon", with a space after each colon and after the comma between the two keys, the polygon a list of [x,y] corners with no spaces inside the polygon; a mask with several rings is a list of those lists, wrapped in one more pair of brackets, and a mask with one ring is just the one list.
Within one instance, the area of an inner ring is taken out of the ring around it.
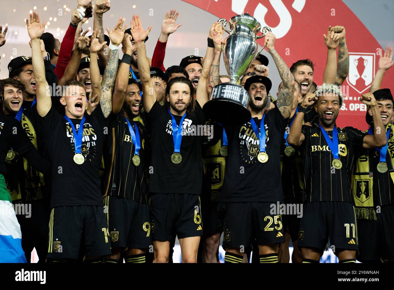
{"label": "large red banner with white lettering and crest behind the trophy", "polygon": [[[345,106],[338,116],[339,127],[352,126],[367,129],[366,106],[358,98],[369,91],[377,71],[377,61],[384,49],[362,24],[360,19],[341,0],[183,0],[227,21],[234,15],[249,13],[262,26],[269,26],[277,37],[275,49],[290,65],[310,58],[314,62],[314,82],[322,83],[327,60],[327,47],[323,34],[329,25],[342,25],[346,29],[349,50],[349,76],[345,80]],[[371,9],[373,7],[371,6]],[[387,33],[390,33],[389,31]],[[226,35],[226,34],[225,34]],[[264,45],[264,38],[258,39]],[[394,92],[394,69],[389,69],[382,88]]]}

